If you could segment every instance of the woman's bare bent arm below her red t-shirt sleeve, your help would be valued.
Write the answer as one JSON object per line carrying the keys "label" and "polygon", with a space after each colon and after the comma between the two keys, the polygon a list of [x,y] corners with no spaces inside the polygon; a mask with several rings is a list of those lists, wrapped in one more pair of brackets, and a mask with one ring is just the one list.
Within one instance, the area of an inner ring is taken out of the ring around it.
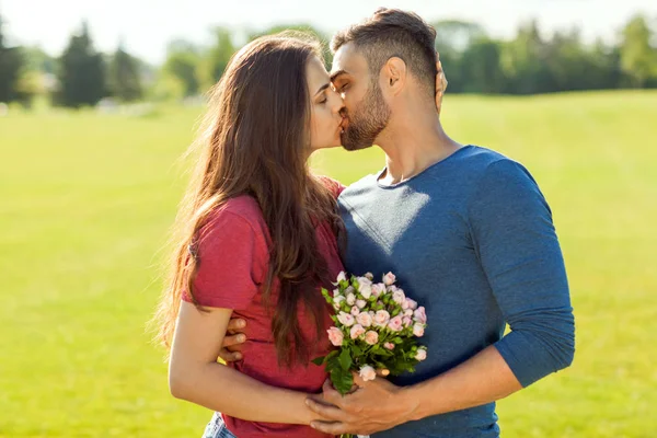
{"label": "woman's bare bent arm below her red t-shirt sleeve", "polygon": [[232,310],[208,310],[181,304],[169,366],[173,396],[252,422],[308,425],[321,419],[307,407],[307,393],[269,387],[218,364]]}

